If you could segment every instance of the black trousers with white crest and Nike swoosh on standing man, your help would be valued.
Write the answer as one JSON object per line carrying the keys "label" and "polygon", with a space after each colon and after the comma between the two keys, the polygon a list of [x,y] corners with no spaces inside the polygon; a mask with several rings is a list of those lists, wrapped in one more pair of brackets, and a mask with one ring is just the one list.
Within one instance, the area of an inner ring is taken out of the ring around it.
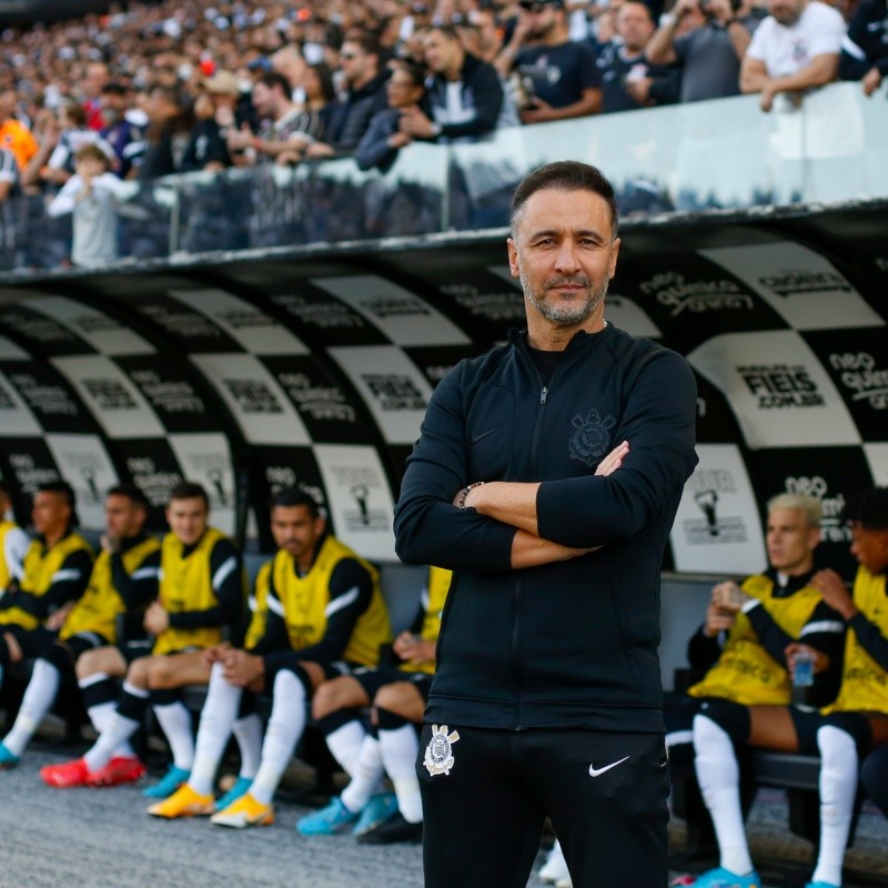
{"label": "black trousers with white crest and Nike swoosh on standing man", "polygon": [[662,735],[425,725],[416,771],[425,888],[525,888],[547,816],[575,888],[667,884]]}

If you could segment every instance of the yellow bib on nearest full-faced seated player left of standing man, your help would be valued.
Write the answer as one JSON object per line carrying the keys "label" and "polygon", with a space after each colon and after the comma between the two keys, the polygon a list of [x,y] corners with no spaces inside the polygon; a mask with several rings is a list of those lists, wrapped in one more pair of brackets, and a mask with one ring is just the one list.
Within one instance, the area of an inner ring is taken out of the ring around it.
{"label": "yellow bib on nearest full-faced seated player left of standing man", "polygon": [[[317,644],[326,632],[330,608],[345,606],[352,601],[352,595],[357,595],[355,588],[330,599],[330,578],[343,558],[354,558],[373,578],[370,606],[357,618],[343,658],[361,666],[375,666],[380,660],[380,645],[392,639],[389,614],[380,589],[380,574],[372,564],[332,536],[326,537],[314,564],[303,577],[296,574],[293,557],[286,552],[282,549],[274,556],[274,591],[283,609],[290,644],[294,650]],[[270,597],[269,606],[274,604]]]}

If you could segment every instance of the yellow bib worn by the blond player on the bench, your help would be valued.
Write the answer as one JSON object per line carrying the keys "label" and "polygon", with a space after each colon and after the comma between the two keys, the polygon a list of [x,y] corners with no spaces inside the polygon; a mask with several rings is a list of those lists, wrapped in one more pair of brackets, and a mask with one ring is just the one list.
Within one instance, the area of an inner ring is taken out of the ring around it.
{"label": "yellow bib worn by the blond player on the bench", "polygon": [[[810,586],[786,597],[775,597],[774,581],[764,574],[747,577],[741,588],[747,595],[758,598],[771,619],[793,638],[799,637],[820,603],[820,593]],[[720,697],[744,706],[780,706],[789,704],[793,686],[785,665],[771,658],[758,640],[749,618],[739,613],[718,663],[687,693],[692,697]]]}

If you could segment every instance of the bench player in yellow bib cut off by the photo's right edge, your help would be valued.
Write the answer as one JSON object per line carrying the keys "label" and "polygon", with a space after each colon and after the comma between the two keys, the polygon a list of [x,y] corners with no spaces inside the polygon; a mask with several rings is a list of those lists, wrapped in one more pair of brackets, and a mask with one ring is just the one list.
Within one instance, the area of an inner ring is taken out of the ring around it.
{"label": "bench player in yellow bib cut off by the photo's right edge", "polygon": [[859,763],[875,747],[888,744],[888,488],[850,498],[842,518],[850,525],[851,553],[860,565],[854,595],[835,571],[820,571],[813,579],[848,626],[848,643],[839,695],[823,709],[825,718],[817,730],[820,841],[807,888],[841,885]]}

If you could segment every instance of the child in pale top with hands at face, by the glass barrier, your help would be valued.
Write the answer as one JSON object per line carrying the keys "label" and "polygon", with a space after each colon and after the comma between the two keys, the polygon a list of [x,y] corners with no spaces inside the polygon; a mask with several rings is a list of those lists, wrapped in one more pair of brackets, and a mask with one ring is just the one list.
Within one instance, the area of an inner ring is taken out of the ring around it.
{"label": "child in pale top with hands at face, by the glass barrier", "polygon": [[83,145],[74,160],[74,175],[52,199],[47,214],[51,219],[73,215],[71,261],[91,269],[117,259],[117,204],[125,185],[110,172],[108,154],[98,144]]}

